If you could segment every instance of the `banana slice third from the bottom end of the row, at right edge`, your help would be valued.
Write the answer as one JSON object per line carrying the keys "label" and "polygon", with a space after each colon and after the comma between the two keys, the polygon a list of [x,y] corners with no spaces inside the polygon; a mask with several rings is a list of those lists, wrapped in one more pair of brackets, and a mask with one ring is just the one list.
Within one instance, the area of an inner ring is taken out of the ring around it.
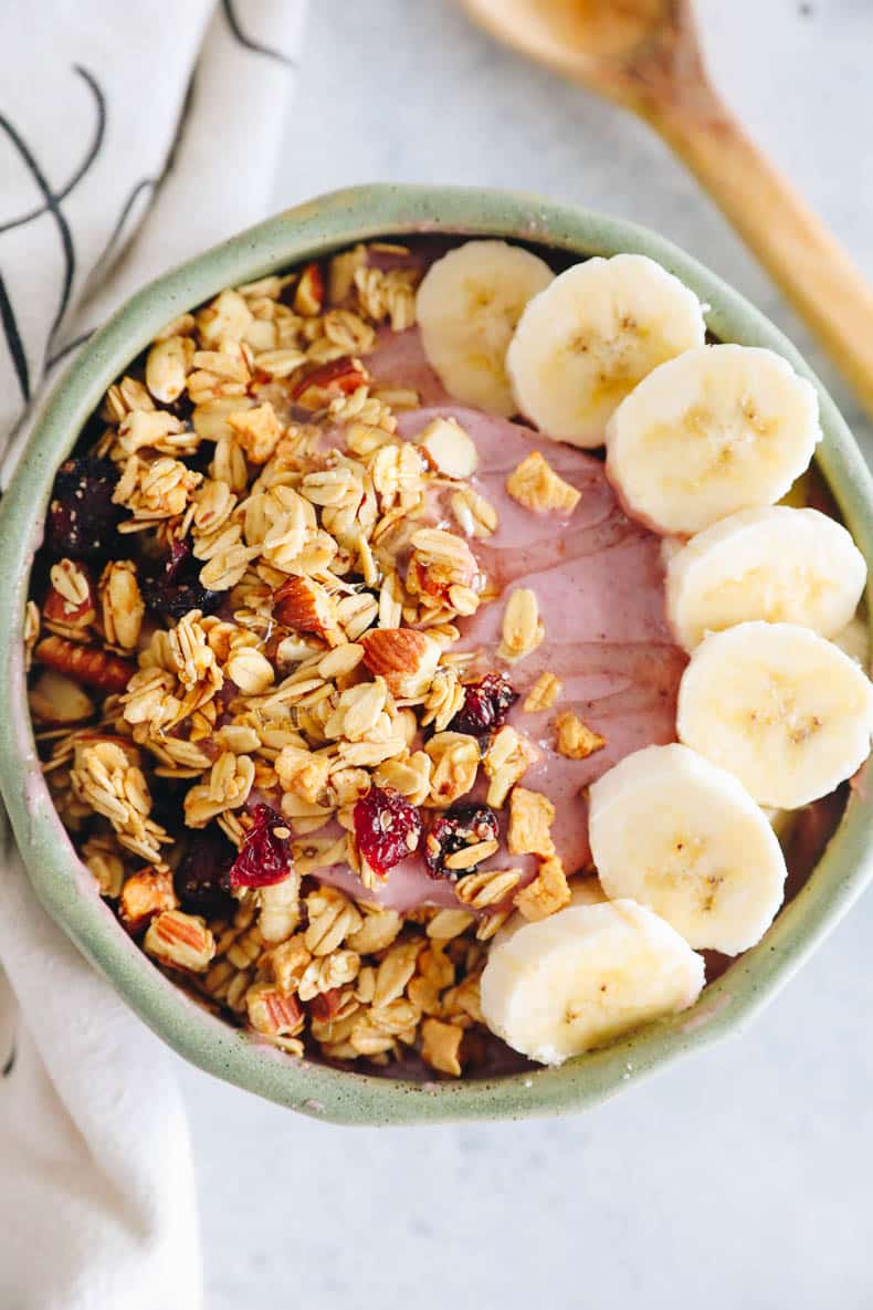
{"label": "banana slice third from the bottom end of the row, at right edge", "polygon": [[866,760],[873,686],[832,642],[794,624],[738,624],[698,646],[679,683],[679,739],[762,806],[796,810]]}

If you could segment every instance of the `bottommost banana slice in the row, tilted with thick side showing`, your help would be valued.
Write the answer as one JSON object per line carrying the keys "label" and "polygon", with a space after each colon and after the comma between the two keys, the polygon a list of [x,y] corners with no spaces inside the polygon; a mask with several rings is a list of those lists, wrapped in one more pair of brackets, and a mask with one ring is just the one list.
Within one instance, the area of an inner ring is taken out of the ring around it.
{"label": "bottommost banana slice in the row, tilted with thick side showing", "polygon": [[558,1065],[694,1005],[703,968],[633,901],[569,907],[491,943],[482,1013],[513,1051]]}

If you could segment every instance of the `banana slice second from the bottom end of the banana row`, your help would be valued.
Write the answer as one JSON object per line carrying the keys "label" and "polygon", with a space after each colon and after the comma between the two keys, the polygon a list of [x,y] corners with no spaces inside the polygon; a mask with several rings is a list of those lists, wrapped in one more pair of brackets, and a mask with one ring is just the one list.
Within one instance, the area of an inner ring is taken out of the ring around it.
{"label": "banana slice second from the bottom end of the banana row", "polygon": [[696,950],[738,955],[781,905],[785,859],[760,806],[685,745],[649,745],[592,783],[589,837],[607,896],[630,896]]}

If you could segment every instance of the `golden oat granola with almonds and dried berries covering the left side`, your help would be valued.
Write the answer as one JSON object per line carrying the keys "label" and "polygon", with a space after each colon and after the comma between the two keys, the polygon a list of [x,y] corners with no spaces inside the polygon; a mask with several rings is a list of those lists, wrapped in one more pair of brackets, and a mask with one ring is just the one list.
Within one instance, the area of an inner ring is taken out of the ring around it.
{"label": "golden oat granola with almonds and dried berries covering the left side", "polygon": [[[160,965],[292,1053],[415,1048],[458,1076],[482,1057],[488,939],[569,887],[554,806],[522,786],[538,749],[505,722],[537,596],[479,563],[497,511],[475,443],[448,418],[402,440],[419,397],[366,368],[420,272],[356,246],[168,325],[59,473],[25,646],[54,800]],[[579,499],[541,455],[508,493]],[[503,673],[461,641],[487,604]],[[524,710],[559,694],[543,673]],[[556,734],[569,758],[603,745],[573,714]],[[497,814],[533,872],[495,866]],[[450,905],[378,903],[414,857]]]}

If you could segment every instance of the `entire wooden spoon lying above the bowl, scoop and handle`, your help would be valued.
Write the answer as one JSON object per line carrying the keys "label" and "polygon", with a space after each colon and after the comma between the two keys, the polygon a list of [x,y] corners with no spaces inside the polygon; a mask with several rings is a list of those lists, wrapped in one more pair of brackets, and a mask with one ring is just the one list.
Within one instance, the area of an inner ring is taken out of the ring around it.
{"label": "entire wooden spoon lying above the bowl, scoop and handle", "polygon": [[644,118],[708,190],[873,415],[873,291],[712,85],[692,0],[461,0],[499,41]]}

